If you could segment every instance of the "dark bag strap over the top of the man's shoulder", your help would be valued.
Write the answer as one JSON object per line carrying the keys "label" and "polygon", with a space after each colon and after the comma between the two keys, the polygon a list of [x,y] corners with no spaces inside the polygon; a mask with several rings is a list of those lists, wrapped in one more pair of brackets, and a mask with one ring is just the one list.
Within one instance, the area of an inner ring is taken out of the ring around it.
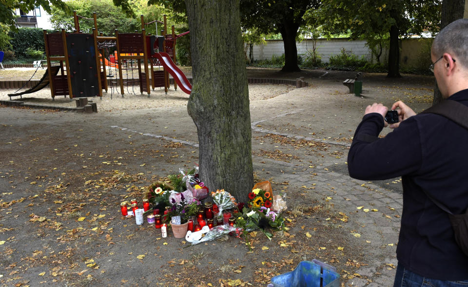
{"label": "dark bag strap over the top of the man's shoulder", "polygon": [[443,100],[421,114],[436,114],[447,117],[468,130],[468,107],[454,100]]}

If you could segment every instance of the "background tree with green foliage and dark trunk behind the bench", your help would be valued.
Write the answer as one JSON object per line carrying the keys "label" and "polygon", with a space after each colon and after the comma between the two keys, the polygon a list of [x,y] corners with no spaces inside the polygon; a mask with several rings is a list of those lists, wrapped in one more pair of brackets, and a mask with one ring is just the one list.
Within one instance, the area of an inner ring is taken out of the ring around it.
{"label": "background tree with green foliage and dark trunk behind the bench", "polygon": [[438,31],[442,0],[323,0],[305,19],[323,23],[331,33],[351,32],[351,38],[375,40],[389,33],[389,74],[399,74],[399,38]]}

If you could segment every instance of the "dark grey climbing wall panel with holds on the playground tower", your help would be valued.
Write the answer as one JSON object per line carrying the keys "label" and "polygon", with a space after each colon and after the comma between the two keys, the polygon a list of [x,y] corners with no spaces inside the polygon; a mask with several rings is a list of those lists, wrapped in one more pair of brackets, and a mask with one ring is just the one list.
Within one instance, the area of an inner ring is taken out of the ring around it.
{"label": "dark grey climbing wall panel with holds on the playground tower", "polygon": [[99,96],[93,35],[73,33],[66,39],[73,97]]}

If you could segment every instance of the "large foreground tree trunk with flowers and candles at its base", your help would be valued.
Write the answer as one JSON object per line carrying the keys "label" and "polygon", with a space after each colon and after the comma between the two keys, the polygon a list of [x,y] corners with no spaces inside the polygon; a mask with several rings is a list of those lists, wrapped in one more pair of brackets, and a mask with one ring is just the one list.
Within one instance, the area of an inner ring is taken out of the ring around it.
{"label": "large foreground tree trunk with flowers and candles at its base", "polygon": [[254,185],[249,90],[239,0],[185,0],[193,86],[187,110],[197,127],[200,177],[247,202]]}

